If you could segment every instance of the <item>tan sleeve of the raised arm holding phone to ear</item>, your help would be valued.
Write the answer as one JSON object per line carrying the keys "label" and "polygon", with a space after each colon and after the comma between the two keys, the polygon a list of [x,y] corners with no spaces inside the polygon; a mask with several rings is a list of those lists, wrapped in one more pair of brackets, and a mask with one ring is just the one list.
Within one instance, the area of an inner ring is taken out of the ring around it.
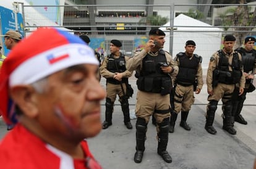
{"label": "tan sleeve of the raised arm holding phone to ear", "polygon": [[130,72],[136,70],[142,65],[143,58],[147,55],[147,52],[143,49],[140,52],[136,52],[133,57],[127,60],[126,69]]}

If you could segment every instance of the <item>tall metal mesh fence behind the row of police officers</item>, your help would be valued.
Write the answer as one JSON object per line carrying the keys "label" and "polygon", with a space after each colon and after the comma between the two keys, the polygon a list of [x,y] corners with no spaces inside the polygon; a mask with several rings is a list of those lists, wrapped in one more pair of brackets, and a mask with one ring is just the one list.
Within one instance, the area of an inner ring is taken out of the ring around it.
{"label": "tall metal mesh fence behind the row of police officers", "polygon": [[[173,4],[171,6],[23,6],[26,35],[38,27],[58,27],[75,35],[86,34],[90,46],[102,57],[109,54],[111,39],[122,42],[122,52],[132,56],[147,42],[148,31],[160,28],[166,33],[164,50],[173,56],[184,51],[187,40],[197,44],[195,53],[203,57],[205,82],[211,54],[221,49],[223,36],[233,34],[235,47],[242,46],[246,36],[256,36],[255,4]],[[101,84],[105,86],[105,78]],[[136,79],[130,83],[137,93]],[[255,83],[255,82],[254,82]],[[255,105],[256,93],[247,95],[246,105]],[[207,104],[207,86],[196,95],[195,104]],[[135,95],[134,95],[135,98]],[[135,99],[130,101],[135,104]]]}

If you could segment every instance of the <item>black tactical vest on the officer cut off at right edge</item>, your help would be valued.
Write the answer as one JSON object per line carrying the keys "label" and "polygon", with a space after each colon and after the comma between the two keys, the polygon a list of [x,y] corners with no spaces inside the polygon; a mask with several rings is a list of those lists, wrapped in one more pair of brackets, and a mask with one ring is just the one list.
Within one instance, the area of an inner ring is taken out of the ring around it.
{"label": "black tactical vest on the officer cut off at right edge", "polygon": [[[246,51],[243,47],[239,47],[236,49],[242,56],[242,64],[244,65],[244,72],[249,73],[254,70],[254,64],[256,62],[256,51],[252,49],[252,51]],[[251,82],[250,79],[247,79],[245,83],[249,84]]]}

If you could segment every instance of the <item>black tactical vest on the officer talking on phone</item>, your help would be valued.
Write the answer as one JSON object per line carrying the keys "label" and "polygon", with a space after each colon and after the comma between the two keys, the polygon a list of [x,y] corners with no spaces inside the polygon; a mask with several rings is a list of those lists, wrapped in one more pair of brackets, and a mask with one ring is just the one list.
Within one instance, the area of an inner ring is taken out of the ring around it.
{"label": "black tactical vest on the officer talking on phone", "polygon": [[147,54],[142,60],[142,70],[138,75],[137,86],[140,91],[150,93],[169,94],[171,89],[171,78],[163,73],[160,66],[167,64],[164,51],[161,49],[158,56]]}

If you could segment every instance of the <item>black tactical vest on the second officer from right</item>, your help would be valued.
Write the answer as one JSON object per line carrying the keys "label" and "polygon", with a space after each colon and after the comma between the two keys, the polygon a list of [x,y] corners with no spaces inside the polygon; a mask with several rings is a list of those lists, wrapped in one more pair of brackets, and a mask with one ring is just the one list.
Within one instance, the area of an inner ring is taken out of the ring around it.
{"label": "black tactical vest on the second officer from right", "polygon": [[[229,65],[228,57],[225,56],[222,50],[218,51],[218,53],[220,56],[219,64],[213,72],[215,74],[213,76],[218,78],[218,83],[224,83],[227,85],[239,83],[242,76],[242,62],[239,60],[237,52],[234,52],[233,54],[232,65]],[[232,71],[229,70],[229,66],[231,66]]]}

